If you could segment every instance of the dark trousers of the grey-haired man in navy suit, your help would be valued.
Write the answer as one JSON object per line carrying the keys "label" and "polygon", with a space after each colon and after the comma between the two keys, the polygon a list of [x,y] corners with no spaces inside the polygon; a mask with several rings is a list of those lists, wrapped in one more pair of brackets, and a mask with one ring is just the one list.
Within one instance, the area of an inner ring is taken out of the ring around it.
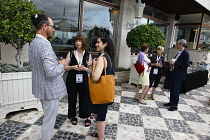
{"label": "dark trousers of the grey-haired man in navy suit", "polygon": [[170,102],[173,106],[178,106],[179,103],[179,94],[181,88],[182,80],[176,79],[174,73],[170,74]]}

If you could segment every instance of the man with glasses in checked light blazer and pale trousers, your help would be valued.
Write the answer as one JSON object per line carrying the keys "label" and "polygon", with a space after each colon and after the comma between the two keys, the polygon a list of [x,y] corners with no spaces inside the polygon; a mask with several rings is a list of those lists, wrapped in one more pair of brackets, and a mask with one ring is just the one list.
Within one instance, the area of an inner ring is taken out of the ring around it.
{"label": "man with glasses in checked light blazer and pale trousers", "polygon": [[40,99],[44,111],[42,140],[50,140],[56,121],[59,98],[64,96],[66,86],[62,78],[65,60],[57,57],[48,41],[52,37],[54,23],[46,15],[32,16],[37,34],[29,46],[29,62],[32,69],[32,93]]}

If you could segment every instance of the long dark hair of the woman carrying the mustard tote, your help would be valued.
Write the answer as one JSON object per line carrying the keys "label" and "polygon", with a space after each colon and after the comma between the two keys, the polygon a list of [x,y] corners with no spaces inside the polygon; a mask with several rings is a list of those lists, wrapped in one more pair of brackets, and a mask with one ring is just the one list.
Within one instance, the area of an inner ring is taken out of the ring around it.
{"label": "long dark hair of the woman carrying the mustard tote", "polygon": [[99,36],[98,38],[101,39],[101,42],[103,44],[107,43],[107,46],[105,47],[104,52],[106,52],[109,55],[111,61],[113,62],[113,60],[114,60],[114,45],[113,45],[112,39],[109,36]]}

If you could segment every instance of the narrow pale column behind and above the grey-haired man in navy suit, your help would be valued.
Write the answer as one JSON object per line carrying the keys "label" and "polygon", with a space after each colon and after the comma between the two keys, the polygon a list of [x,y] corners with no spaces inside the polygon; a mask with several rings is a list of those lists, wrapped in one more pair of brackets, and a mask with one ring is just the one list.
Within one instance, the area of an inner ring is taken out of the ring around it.
{"label": "narrow pale column behind and above the grey-haired man in navy suit", "polygon": [[165,54],[168,56],[169,53],[169,48],[173,47],[173,42],[174,42],[174,37],[176,35],[176,27],[175,27],[175,23],[176,20],[174,19],[175,14],[172,14],[170,16],[170,20],[169,20],[169,27],[168,27],[168,33],[167,33],[167,39],[166,39],[166,48],[165,48]]}

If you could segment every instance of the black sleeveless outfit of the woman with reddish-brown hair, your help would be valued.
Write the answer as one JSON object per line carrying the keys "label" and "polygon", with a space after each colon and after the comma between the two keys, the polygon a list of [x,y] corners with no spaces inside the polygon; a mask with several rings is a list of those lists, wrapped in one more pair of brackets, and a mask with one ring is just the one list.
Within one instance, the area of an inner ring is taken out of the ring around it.
{"label": "black sleeveless outfit of the woman with reddish-brown hair", "polygon": [[[87,67],[87,57],[89,53],[85,51],[83,55],[83,65]],[[78,65],[77,59],[72,52],[70,55],[70,64],[69,66]],[[83,75],[83,82],[76,83],[76,74]],[[70,70],[67,75],[66,79],[66,87],[68,92],[68,118],[71,119],[72,117],[76,116],[76,102],[77,102],[77,93],[79,93],[79,117],[80,118],[87,118],[90,114],[87,114],[83,110],[84,101],[87,100],[86,97],[89,95],[88,89],[88,74],[86,71],[76,71]]]}

